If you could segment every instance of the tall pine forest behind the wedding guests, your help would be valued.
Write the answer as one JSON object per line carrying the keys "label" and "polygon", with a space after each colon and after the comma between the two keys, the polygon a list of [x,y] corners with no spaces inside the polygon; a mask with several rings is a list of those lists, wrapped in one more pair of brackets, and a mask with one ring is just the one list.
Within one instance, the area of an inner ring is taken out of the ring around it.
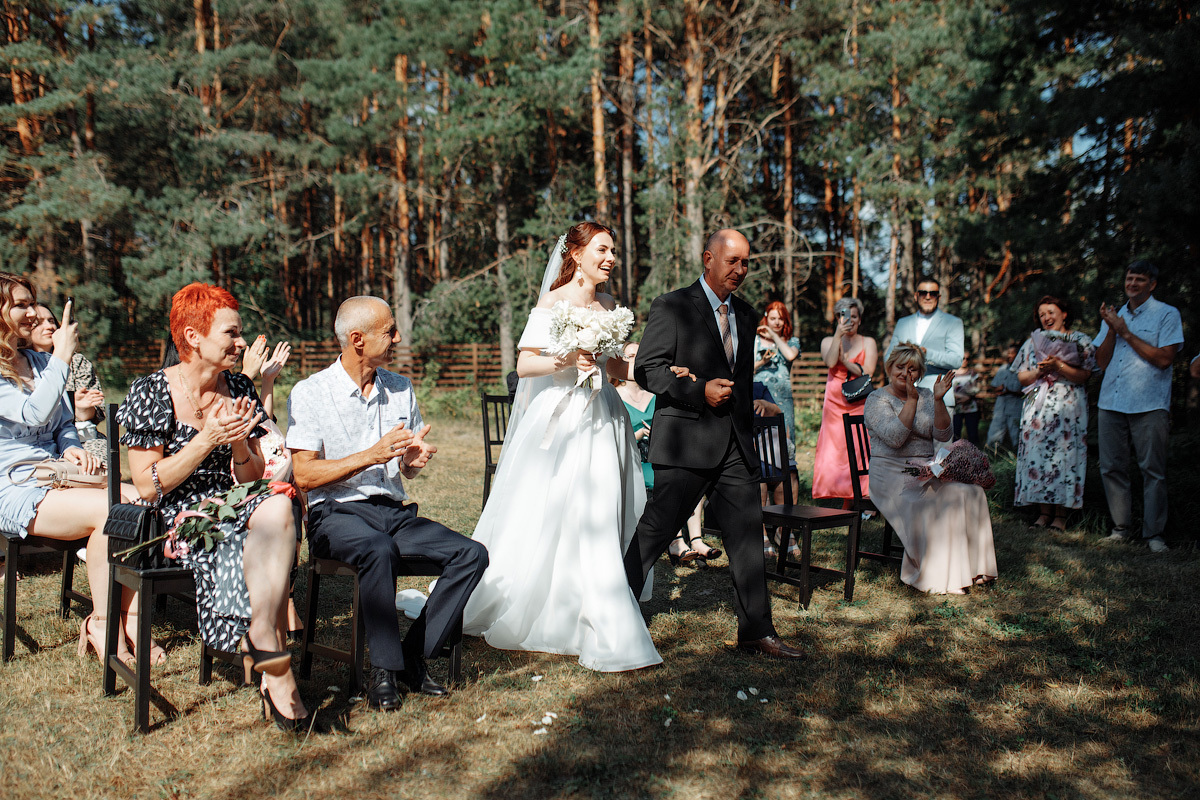
{"label": "tall pine forest behind the wedding guests", "polygon": [[[804,347],[922,275],[994,353],[1133,258],[1195,330],[1200,26],[1176,0],[0,0],[0,269],[89,348],[204,279],[277,336],[380,295],[511,357],[554,239],[644,315],[707,233]],[[1194,347],[1186,347],[1194,351]]]}

